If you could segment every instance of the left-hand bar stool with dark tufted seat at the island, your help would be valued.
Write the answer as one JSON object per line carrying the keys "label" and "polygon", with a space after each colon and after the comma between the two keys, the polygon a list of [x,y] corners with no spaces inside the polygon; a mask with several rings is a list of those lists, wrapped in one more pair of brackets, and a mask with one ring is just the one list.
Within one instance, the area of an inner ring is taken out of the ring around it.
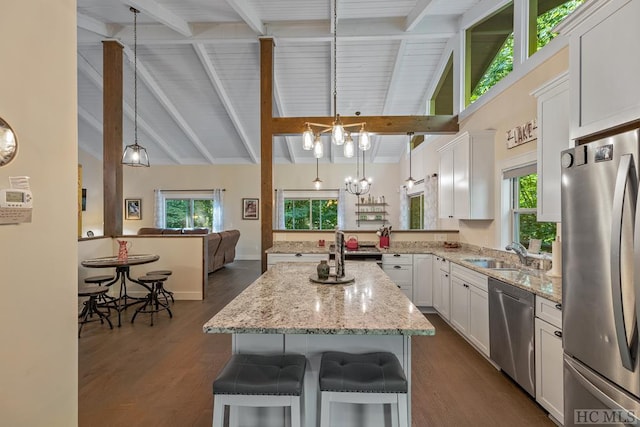
{"label": "left-hand bar stool with dark tufted seat at the island", "polygon": [[213,427],[223,426],[226,405],[289,406],[291,427],[301,427],[306,365],[300,354],[234,354],[213,382]]}

